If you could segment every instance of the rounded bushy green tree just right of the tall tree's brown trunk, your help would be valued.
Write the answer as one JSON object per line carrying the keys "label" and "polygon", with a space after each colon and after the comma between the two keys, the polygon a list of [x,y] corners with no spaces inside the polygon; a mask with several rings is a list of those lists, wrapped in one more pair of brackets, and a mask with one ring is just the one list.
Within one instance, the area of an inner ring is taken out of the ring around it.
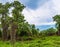
{"label": "rounded bushy green tree just right of the tall tree's brown trunk", "polygon": [[20,27],[21,27],[20,36],[31,36],[32,32],[31,32],[31,28],[28,22],[22,23]]}

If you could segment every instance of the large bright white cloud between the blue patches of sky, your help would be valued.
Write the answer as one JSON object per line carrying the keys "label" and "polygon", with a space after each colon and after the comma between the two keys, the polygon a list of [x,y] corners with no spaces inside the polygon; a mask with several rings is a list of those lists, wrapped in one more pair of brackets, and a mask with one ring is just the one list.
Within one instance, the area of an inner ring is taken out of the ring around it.
{"label": "large bright white cloud between the blue patches of sky", "polygon": [[[56,0],[57,2],[57,0]],[[58,5],[58,4],[57,4]],[[57,5],[55,5],[54,0],[50,0],[46,2],[44,5],[39,6],[36,10],[32,10],[29,8],[25,8],[23,10],[23,14],[25,16],[25,19],[30,24],[35,25],[53,25],[55,22],[53,22],[52,17],[57,14],[59,11],[59,5],[58,8]],[[56,10],[58,9],[58,10]]]}

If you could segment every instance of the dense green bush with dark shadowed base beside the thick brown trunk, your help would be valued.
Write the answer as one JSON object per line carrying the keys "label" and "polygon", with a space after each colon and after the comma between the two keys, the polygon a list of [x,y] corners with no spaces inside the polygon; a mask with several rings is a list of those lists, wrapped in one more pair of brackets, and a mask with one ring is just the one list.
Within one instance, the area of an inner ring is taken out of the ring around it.
{"label": "dense green bush with dark shadowed base beside the thick brown trunk", "polygon": [[31,34],[31,30],[28,23],[20,23],[19,26],[20,26],[19,27],[20,29],[18,30],[19,35],[29,36]]}

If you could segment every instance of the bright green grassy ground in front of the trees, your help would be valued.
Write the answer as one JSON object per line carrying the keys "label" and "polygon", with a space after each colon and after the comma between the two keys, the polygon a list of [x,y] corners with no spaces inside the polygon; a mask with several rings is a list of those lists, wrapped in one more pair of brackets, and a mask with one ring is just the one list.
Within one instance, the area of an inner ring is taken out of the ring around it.
{"label": "bright green grassy ground in front of the trees", "polygon": [[[0,47],[13,47],[10,42],[0,41]],[[14,47],[60,47],[60,36],[35,38],[31,41],[16,42]]]}

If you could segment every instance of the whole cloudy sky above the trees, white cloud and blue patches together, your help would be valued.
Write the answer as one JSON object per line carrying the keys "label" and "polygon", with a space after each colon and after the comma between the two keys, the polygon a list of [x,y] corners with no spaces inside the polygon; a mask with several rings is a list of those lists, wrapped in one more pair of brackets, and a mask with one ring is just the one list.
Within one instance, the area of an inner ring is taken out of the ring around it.
{"label": "whole cloudy sky above the trees, white cloud and blue patches together", "polygon": [[[0,0],[0,2],[13,0]],[[60,0],[19,0],[26,6],[23,10],[26,21],[35,24],[37,28],[47,29],[54,27],[53,17],[60,14]]]}

